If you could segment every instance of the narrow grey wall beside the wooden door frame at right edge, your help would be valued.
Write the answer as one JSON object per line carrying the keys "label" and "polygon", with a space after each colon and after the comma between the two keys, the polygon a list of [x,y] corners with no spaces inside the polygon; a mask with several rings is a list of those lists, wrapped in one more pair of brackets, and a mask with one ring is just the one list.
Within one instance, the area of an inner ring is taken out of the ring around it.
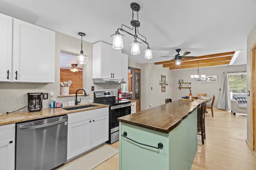
{"label": "narrow grey wall beside the wooden door frame at right edge", "polygon": [[[256,25],[247,37],[247,90],[251,91],[250,49],[256,43]],[[247,141],[251,144],[251,97],[247,96]]]}

